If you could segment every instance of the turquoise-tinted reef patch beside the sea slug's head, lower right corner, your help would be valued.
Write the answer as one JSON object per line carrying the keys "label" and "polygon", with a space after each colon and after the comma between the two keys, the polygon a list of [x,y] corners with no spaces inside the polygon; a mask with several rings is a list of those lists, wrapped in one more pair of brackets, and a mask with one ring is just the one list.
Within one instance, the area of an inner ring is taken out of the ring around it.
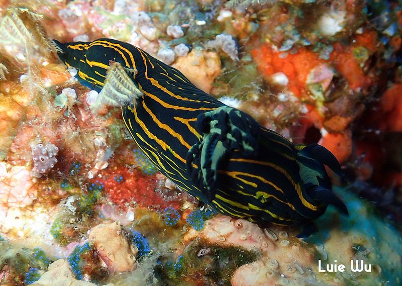
{"label": "turquoise-tinted reef patch beside the sea slug's head, lower right corner", "polygon": [[[305,242],[321,248],[318,259],[338,263],[350,263],[350,258],[364,259],[366,264],[373,266],[372,271],[362,274],[352,280],[359,285],[377,285],[378,281],[387,281],[384,285],[400,285],[402,281],[402,238],[391,222],[375,215],[374,206],[353,194],[350,189],[334,187],[334,193],[342,198],[349,210],[349,218],[340,217],[339,213],[329,207],[326,213],[316,221],[320,230]],[[334,248],[332,236],[347,236],[354,257],[340,257],[339,249]],[[323,253],[324,251],[324,253]],[[342,261],[345,260],[345,261]],[[346,264],[346,265],[347,265]],[[378,268],[379,266],[380,268]],[[380,269],[379,271],[375,270]],[[350,280],[345,271],[338,273]]]}

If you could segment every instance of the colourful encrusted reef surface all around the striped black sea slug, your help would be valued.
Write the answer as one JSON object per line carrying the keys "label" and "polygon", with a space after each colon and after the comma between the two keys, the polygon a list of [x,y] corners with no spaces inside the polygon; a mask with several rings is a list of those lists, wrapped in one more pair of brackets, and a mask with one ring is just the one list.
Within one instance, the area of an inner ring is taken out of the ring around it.
{"label": "colourful encrusted reef surface all around the striped black sea slug", "polygon": [[[0,0],[0,13],[0,285],[402,285],[401,1]],[[299,239],[181,192],[119,108],[93,112],[98,92],[51,42],[97,38],[328,148],[350,216],[329,207]],[[345,271],[319,271],[334,264]]]}

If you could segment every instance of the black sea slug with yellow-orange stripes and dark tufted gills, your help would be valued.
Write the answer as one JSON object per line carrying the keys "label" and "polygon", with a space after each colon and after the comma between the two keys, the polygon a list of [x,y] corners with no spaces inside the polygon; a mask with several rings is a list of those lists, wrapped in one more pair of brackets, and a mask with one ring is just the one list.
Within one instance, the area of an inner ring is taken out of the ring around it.
{"label": "black sea slug with yellow-orange stripes and dark tufted gills", "polygon": [[78,79],[100,90],[100,105],[121,106],[127,129],[155,167],[219,213],[304,226],[299,237],[311,234],[329,204],[348,213],[324,167],[341,174],[340,165],[324,147],[293,145],[130,44],[54,42]]}

